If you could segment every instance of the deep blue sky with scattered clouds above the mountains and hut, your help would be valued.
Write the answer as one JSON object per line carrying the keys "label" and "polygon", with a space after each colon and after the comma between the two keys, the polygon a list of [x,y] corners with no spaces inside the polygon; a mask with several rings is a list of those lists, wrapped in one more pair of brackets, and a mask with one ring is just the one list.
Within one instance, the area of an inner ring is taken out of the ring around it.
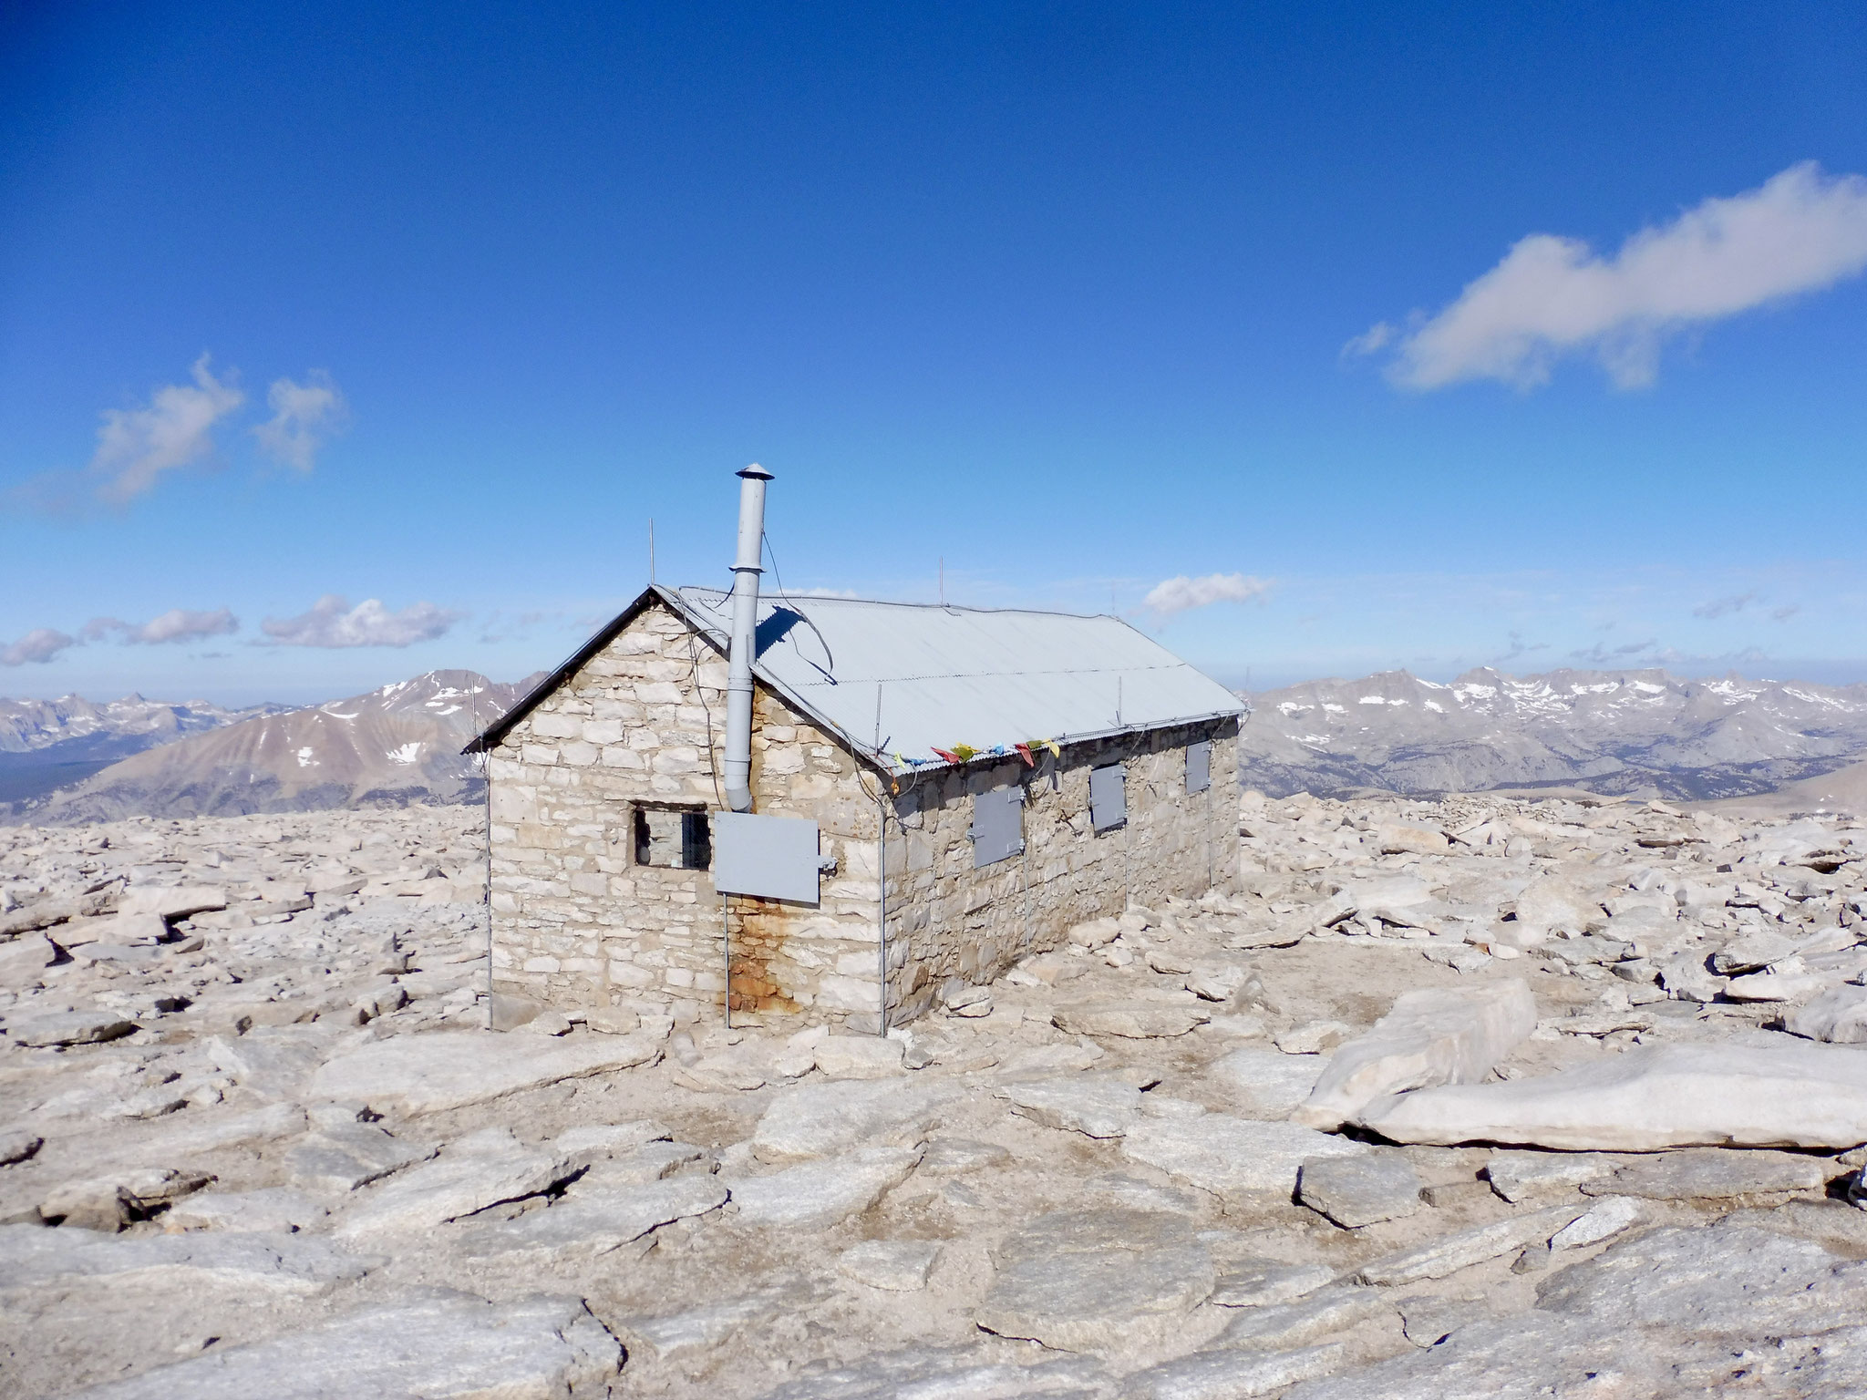
{"label": "deep blue sky with scattered clouds above the mountains and hut", "polygon": [[0,694],[512,679],[754,459],[1255,687],[1867,679],[1858,6],[386,9],[0,19]]}

